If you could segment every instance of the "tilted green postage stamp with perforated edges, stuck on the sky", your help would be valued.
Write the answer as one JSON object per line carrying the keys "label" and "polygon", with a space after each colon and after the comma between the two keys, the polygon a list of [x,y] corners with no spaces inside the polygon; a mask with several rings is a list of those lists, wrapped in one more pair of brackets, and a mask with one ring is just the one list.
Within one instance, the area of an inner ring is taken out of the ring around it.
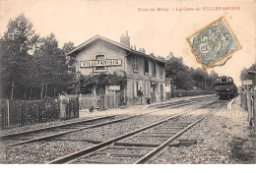
{"label": "tilted green postage stamp with perforated edges, stuck on the sky", "polygon": [[193,54],[204,69],[224,64],[241,48],[224,17],[187,37]]}

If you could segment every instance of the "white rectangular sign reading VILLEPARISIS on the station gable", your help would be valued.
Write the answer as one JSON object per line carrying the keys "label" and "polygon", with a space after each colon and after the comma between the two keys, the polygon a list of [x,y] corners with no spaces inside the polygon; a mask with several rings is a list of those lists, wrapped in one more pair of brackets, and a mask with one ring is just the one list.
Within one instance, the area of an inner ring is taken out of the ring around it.
{"label": "white rectangular sign reading VILLEPARISIS on the station gable", "polygon": [[121,66],[121,59],[80,61],[80,67],[105,67],[105,66]]}

